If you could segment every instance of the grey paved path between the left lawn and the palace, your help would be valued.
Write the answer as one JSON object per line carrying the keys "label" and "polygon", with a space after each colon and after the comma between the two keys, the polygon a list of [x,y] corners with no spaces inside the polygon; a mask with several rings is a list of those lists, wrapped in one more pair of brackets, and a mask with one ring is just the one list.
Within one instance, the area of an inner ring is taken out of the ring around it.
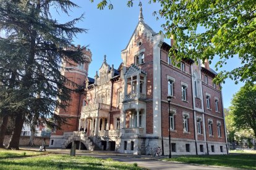
{"label": "grey paved path between the left lawn and the palace", "polygon": [[[26,150],[38,150],[38,148],[30,148],[30,147],[21,147],[21,149]],[[69,149],[59,149],[59,148],[46,148],[46,152],[51,153],[61,153],[61,154],[70,154]],[[236,168],[221,168],[217,166],[203,166],[199,164],[186,164],[186,163],[178,163],[173,161],[161,161],[159,158],[152,158],[151,156],[145,155],[130,155],[124,153],[117,152],[108,152],[108,151],[95,151],[90,152],[87,150],[76,150],[76,155],[84,155],[84,156],[93,156],[96,158],[112,158],[116,161],[122,161],[126,163],[137,163],[139,166],[147,168],[147,169],[209,169],[209,170],[220,170],[220,169],[236,169]]]}

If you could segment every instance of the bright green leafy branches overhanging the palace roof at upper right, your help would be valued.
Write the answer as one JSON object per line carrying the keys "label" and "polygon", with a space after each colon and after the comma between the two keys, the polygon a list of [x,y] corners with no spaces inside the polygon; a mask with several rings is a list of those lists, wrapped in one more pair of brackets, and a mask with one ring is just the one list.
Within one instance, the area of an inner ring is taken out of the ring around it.
{"label": "bright green leafy branches overhanging the palace roof at upper right", "polygon": [[[91,0],[93,2],[93,0]],[[132,6],[134,0],[127,1]],[[148,2],[151,2],[149,0]],[[192,58],[211,63],[220,57],[215,67],[223,67],[228,59],[238,57],[241,66],[231,71],[220,71],[216,83],[224,79],[256,81],[256,3],[252,0],[187,1],[152,0],[161,5],[156,18],[166,22],[161,25],[166,38],[174,38],[175,43],[169,56],[177,60]],[[141,2],[139,2],[141,4]],[[111,1],[98,3],[98,9],[105,6],[113,9]],[[192,49],[190,49],[190,46]]]}

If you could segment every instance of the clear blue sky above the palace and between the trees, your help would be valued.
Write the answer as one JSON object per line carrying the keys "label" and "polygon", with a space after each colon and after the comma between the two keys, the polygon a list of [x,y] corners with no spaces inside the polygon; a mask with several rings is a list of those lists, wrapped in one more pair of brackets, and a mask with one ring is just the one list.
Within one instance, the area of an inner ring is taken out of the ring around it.
{"label": "clear blue sky above the palace and between the trees", "polygon": [[[121,60],[121,50],[124,49],[132,36],[135,26],[139,22],[139,1],[134,2],[133,7],[127,7],[126,0],[112,0],[114,5],[113,10],[108,10],[106,7],[104,10],[97,9],[96,5],[100,1],[91,3],[89,0],[79,1],[75,0],[80,8],[72,9],[70,16],[56,14],[54,17],[59,22],[65,22],[72,18],[79,17],[81,14],[85,14],[85,18],[82,22],[77,24],[80,28],[88,29],[88,33],[78,34],[74,39],[74,44],[80,44],[81,46],[88,46],[92,51],[92,63],[89,67],[89,76],[94,77],[95,72],[100,68],[103,62],[104,55],[109,65],[114,64],[114,68],[119,67]],[[164,20],[156,20],[152,13],[154,10],[160,9],[158,4],[148,4],[148,1],[142,1],[144,21],[155,31],[161,30],[161,24]],[[169,40],[166,39],[169,43]],[[211,64],[211,68],[214,67],[218,61],[216,57]],[[235,67],[239,67],[239,60],[229,60],[228,65],[224,66],[224,70],[232,70]],[[230,79],[226,80],[223,84],[223,103],[227,108],[231,104],[233,94],[237,92],[243,83],[234,84],[234,81]]]}

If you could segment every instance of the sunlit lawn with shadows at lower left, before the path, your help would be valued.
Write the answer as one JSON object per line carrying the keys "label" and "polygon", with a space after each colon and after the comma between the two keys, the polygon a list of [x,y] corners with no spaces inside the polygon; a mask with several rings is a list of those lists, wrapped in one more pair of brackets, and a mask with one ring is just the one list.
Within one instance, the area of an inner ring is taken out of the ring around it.
{"label": "sunlit lawn with shadows at lower left, before the path", "polygon": [[[23,153],[26,153],[23,155]],[[37,154],[36,154],[37,153]],[[45,155],[47,154],[47,155]],[[39,156],[38,156],[39,155]],[[19,159],[14,159],[19,158]],[[0,169],[142,169],[137,164],[90,156],[69,156],[46,152],[0,150]]]}

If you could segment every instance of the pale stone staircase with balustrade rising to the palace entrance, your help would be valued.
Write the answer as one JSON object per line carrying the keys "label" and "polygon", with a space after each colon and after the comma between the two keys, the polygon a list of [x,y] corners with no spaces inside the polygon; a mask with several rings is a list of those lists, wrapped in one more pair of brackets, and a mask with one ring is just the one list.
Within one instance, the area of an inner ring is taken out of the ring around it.
{"label": "pale stone staircase with balustrade rising to the palace entrance", "polygon": [[64,133],[64,136],[69,136],[67,140],[62,144],[62,148],[66,148],[67,145],[72,143],[74,140],[82,142],[87,150],[93,151],[93,150],[102,150],[102,148],[98,147],[93,140],[85,136],[84,132],[69,132],[69,133]]}

